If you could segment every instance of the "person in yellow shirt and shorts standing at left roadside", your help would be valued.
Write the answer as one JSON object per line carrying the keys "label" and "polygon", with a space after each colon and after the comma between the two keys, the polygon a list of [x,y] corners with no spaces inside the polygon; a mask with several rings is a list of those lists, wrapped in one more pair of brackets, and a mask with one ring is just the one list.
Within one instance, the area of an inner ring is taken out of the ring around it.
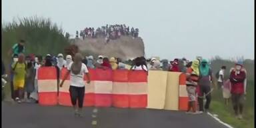
{"label": "person in yellow shirt and shorts standing at left roadside", "polygon": [[15,101],[17,101],[18,103],[21,103],[21,99],[23,99],[25,75],[26,75],[25,57],[22,53],[19,54],[18,61],[13,63],[11,67],[14,73],[13,88],[15,91]]}

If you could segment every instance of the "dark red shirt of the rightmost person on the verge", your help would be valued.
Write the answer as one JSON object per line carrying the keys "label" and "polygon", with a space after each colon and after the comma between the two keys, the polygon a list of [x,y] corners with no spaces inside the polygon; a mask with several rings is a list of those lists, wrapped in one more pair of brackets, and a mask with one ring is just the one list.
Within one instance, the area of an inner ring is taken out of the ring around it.
{"label": "dark red shirt of the rightmost person on the verge", "polygon": [[230,82],[231,82],[231,93],[243,94],[245,93],[244,81],[245,81],[245,71],[240,71],[239,74],[235,74],[235,70],[230,73]]}

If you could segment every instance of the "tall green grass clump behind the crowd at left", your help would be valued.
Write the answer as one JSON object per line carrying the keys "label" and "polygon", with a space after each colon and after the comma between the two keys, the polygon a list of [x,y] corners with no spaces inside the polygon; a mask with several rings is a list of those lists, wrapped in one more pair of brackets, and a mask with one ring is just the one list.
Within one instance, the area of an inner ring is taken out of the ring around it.
{"label": "tall green grass clump behind the crowd at left", "polygon": [[5,60],[10,58],[7,51],[20,39],[26,41],[26,55],[29,53],[56,55],[57,53],[63,53],[64,48],[69,45],[63,29],[52,23],[49,18],[37,16],[17,18],[11,23],[3,23],[2,37],[2,58]]}

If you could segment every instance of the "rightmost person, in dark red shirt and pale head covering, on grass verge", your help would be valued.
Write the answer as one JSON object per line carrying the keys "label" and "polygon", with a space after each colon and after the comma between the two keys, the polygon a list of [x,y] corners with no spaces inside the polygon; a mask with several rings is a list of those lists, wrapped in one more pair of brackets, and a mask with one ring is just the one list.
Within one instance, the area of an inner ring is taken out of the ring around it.
{"label": "rightmost person, in dark red shirt and pale head covering, on grass verge", "polygon": [[233,109],[235,111],[235,117],[243,119],[243,104],[246,94],[246,85],[244,83],[246,79],[246,72],[243,69],[243,62],[238,61],[235,64],[235,67],[231,69],[229,79],[231,82],[231,99]]}

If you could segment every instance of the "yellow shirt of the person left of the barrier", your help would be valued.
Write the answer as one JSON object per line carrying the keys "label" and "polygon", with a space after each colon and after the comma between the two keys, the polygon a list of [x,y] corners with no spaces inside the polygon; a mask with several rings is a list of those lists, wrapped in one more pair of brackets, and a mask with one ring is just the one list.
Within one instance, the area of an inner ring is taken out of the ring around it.
{"label": "yellow shirt of the person left of the barrier", "polygon": [[[11,65],[12,68],[15,67],[16,63],[13,63],[13,65]],[[22,81],[25,80],[25,75],[26,75],[26,69],[25,69],[25,63],[19,63],[17,62],[17,65],[14,69],[14,76],[13,76],[13,80],[14,81]]]}

